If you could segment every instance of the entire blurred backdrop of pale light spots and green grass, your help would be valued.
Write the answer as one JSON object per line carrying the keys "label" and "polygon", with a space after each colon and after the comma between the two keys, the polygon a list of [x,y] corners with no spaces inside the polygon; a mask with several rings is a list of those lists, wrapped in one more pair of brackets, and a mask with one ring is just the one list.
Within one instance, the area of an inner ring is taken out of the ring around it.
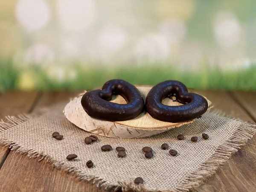
{"label": "entire blurred backdrop of pale light spots and green grass", "polygon": [[0,90],[109,79],[256,90],[256,0],[0,0]]}

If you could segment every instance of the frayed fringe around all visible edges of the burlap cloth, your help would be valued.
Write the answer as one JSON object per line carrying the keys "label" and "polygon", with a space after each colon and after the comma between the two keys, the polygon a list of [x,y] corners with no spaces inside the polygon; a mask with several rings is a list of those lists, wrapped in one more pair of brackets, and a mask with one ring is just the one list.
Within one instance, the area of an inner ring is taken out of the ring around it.
{"label": "frayed fringe around all visible edges of the burlap cloth", "polygon": [[[21,114],[17,117],[6,116],[6,119],[1,120],[0,122],[0,132],[19,125],[23,122],[26,122],[29,119],[39,117],[46,111],[47,109],[43,109],[32,114]],[[219,111],[215,111],[213,113],[218,116],[225,115],[224,113],[221,113]],[[230,136],[230,138],[223,144],[219,145],[215,153],[213,153],[206,162],[202,163],[196,171],[192,172],[185,179],[185,181],[177,187],[177,189],[171,190],[148,190],[147,188],[145,188],[144,185],[135,185],[133,182],[127,183],[118,181],[120,186],[111,185],[106,183],[106,181],[100,179],[99,177],[95,177],[93,175],[85,175],[73,166],[66,165],[64,162],[53,160],[49,155],[46,155],[42,152],[24,148],[16,144],[14,141],[1,139],[0,146],[9,147],[12,151],[16,151],[20,154],[27,154],[30,159],[39,158],[38,161],[46,160],[47,163],[50,163],[54,168],[64,170],[64,172],[76,176],[81,181],[84,180],[96,184],[96,186],[99,188],[104,187],[104,189],[108,191],[116,191],[122,188],[123,191],[134,190],[135,192],[188,192],[189,189],[198,187],[199,185],[201,185],[201,183],[203,183],[204,180],[207,179],[207,177],[212,176],[219,168],[219,166],[223,165],[233,153],[235,153],[239,148],[241,148],[242,145],[246,143],[247,140],[251,139],[253,135],[256,134],[256,125],[244,122],[240,119],[235,119],[231,117],[229,118],[233,121],[240,122],[241,125]]]}

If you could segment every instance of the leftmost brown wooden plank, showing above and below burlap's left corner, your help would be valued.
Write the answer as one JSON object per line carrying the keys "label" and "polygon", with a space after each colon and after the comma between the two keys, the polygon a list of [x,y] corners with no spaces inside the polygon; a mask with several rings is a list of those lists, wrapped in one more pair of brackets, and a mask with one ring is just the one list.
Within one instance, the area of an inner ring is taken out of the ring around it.
{"label": "leftmost brown wooden plank, showing above and below burlap's left corner", "polygon": [[[8,91],[3,93],[0,95],[0,119],[6,115],[15,116],[20,113],[29,113],[37,97],[37,92]],[[0,168],[8,154],[8,148],[0,147]]]}

